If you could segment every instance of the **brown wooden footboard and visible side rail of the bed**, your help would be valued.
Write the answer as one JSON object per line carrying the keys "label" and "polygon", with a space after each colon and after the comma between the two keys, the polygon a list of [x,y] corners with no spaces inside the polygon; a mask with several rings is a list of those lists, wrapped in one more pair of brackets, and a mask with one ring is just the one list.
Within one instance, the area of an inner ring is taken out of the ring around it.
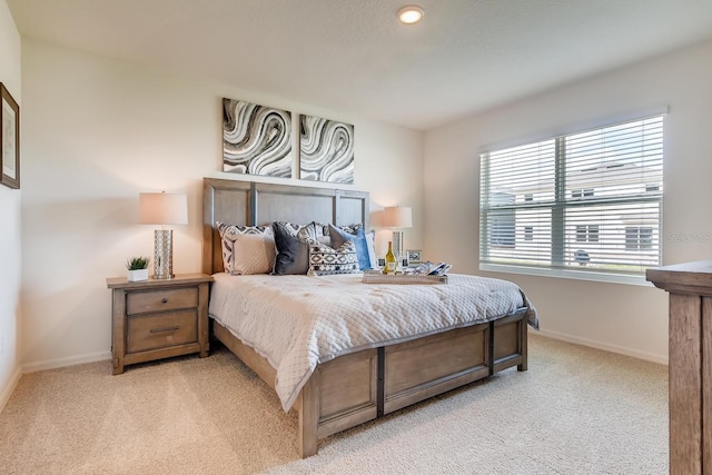
{"label": "brown wooden footboard and visible side rail of the bed", "polygon": [[[483,379],[512,366],[526,370],[526,308],[501,319],[339,356],[317,366],[295,404],[299,454],[318,439]],[[275,369],[229,330],[214,335],[270,387]]]}

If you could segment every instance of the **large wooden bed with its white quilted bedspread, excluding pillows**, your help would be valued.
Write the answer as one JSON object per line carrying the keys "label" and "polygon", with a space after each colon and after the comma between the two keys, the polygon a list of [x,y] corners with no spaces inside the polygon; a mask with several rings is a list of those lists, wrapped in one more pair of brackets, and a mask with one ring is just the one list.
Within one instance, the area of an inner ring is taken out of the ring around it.
{"label": "large wooden bed with its white quilted bedspread, excluding pillows", "polygon": [[[328,435],[505,368],[527,369],[527,325],[537,327],[536,311],[518,287],[504,280],[452,275],[444,285],[372,285],[364,284],[359,274],[309,277],[224,273],[217,222],[256,226],[317,221],[363,224],[368,229],[368,194],[364,191],[204,179],[202,267],[215,276],[211,334],[277,392],[285,410],[298,410],[301,457],[316,454],[318,441]],[[476,298],[467,287],[475,280],[484,287]],[[312,308],[317,295],[343,296],[332,298],[322,311],[330,326],[317,317],[310,320],[312,314],[318,313]],[[488,295],[498,298],[494,307],[485,308]],[[393,305],[388,310],[379,307],[393,299],[400,304],[388,304]],[[462,310],[463,299],[473,300],[463,307],[477,306],[472,313],[476,318]],[[397,305],[411,301],[417,301],[416,307],[398,310]],[[423,310],[443,301],[448,311]],[[289,327],[285,319],[280,328],[283,317],[270,317],[293,313],[293,308],[304,309],[304,317],[298,314],[295,319],[309,319],[307,329]],[[354,316],[347,315],[349,308]],[[268,326],[270,318],[273,327]],[[349,327],[344,321],[358,321],[352,326],[372,328],[373,335],[363,337],[356,331],[344,336],[340,328]],[[408,329],[408,323],[417,328]],[[247,333],[247,327],[255,327],[255,333]],[[334,335],[336,343],[322,343],[324,333]],[[312,347],[286,339],[297,334],[304,334]],[[268,340],[274,340],[271,347]],[[287,360],[291,365],[285,369]]]}

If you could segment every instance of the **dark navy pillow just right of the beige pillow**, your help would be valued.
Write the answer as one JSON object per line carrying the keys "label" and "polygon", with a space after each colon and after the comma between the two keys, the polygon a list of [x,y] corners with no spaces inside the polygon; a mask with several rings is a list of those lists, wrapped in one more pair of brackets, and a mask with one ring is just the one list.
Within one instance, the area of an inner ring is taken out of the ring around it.
{"label": "dark navy pillow just right of the beige pillow", "polygon": [[274,275],[306,274],[309,269],[307,244],[310,238],[308,230],[303,230],[305,226],[286,221],[271,224],[277,248],[275,267],[271,271]]}

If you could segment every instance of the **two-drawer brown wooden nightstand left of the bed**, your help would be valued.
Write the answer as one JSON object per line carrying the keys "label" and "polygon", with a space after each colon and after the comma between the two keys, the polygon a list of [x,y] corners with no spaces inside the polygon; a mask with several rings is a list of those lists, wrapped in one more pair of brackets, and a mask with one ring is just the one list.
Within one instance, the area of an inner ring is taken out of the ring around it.
{"label": "two-drawer brown wooden nightstand left of the bed", "polygon": [[125,365],[200,353],[208,356],[208,293],[212,277],[182,274],[172,279],[108,278],[111,289],[113,374]]}

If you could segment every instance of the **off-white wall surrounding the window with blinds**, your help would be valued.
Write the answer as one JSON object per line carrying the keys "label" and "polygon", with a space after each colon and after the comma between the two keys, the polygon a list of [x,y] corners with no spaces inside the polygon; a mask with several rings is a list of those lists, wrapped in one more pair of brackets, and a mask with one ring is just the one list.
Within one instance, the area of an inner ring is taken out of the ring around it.
{"label": "off-white wall surrounding the window with blinds", "polygon": [[[654,287],[478,271],[477,152],[670,106],[665,118],[664,264],[712,257],[712,43],[455,121],[425,138],[425,257],[521,285],[542,333],[668,360],[668,295]],[[447,210],[447,212],[444,212]]]}

